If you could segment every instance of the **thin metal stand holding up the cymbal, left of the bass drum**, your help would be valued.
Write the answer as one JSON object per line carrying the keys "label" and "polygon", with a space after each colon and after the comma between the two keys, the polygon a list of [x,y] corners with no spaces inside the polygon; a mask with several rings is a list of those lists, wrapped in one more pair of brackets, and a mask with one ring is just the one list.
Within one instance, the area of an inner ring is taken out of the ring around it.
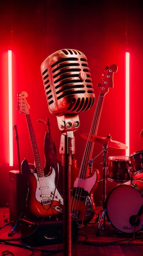
{"label": "thin metal stand holding up the cymbal, left of the bass drum", "polygon": [[[105,215],[105,201],[106,201],[106,154],[108,149],[108,142],[103,145],[103,208],[102,208],[102,215],[100,217],[100,222],[98,225],[98,230],[96,232],[96,236],[100,236],[99,230],[100,230],[100,223],[101,219],[103,218],[103,228],[102,230],[106,230],[106,215]],[[101,225],[101,227],[102,227]]]}

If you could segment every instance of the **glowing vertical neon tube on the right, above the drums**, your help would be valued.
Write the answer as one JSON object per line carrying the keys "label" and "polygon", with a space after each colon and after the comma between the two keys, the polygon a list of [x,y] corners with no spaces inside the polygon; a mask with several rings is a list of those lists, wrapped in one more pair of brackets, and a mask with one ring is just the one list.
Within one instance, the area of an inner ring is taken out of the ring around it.
{"label": "glowing vertical neon tube on the right, above the drums", "polygon": [[126,52],[126,156],[130,155],[130,53]]}

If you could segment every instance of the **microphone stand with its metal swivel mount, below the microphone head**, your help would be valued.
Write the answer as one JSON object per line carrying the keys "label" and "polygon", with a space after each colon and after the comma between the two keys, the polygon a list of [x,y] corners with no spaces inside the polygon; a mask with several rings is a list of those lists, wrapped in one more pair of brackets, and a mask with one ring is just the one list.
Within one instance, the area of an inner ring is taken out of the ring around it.
{"label": "microphone stand with its metal swivel mount, below the microphone head", "polygon": [[58,128],[62,131],[59,153],[63,166],[63,255],[71,256],[71,165],[75,153],[74,132],[80,122],[78,115],[57,117]]}

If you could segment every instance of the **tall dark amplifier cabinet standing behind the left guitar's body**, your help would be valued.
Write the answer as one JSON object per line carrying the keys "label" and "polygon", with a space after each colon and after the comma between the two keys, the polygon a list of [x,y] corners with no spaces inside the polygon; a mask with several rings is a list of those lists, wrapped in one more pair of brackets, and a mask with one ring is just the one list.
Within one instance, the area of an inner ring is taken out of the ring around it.
{"label": "tall dark amplifier cabinet standing behind the left guitar's body", "polygon": [[9,216],[14,225],[21,213],[26,213],[27,183],[18,170],[9,171],[10,195]]}

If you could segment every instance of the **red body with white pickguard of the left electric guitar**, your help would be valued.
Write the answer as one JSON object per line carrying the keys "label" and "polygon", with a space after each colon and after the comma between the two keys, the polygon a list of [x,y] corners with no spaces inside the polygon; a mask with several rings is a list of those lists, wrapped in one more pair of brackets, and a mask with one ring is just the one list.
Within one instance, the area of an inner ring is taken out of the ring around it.
{"label": "red body with white pickguard of the left electric guitar", "polygon": [[55,186],[54,168],[50,175],[38,178],[37,173],[30,171],[28,161],[24,159],[22,175],[28,182],[26,204],[30,214],[52,218],[63,213],[63,198]]}

